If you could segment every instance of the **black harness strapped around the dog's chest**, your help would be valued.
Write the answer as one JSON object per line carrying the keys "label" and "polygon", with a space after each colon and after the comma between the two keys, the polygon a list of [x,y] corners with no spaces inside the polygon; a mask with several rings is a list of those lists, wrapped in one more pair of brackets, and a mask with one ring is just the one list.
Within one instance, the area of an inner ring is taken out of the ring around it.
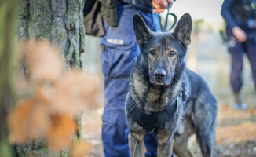
{"label": "black harness strapped around the dog's chest", "polygon": [[129,94],[126,102],[126,111],[131,116],[131,118],[137,122],[140,126],[143,127],[144,132],[147,134],[153,133],[155,128],[159,128],[163,123],[170,121],[174,117],[174,113],[180,105],[183,105],[184,100],[186,99],[185,93],[185,81],[182,82],[182,87],[179,93],[177,94],[176,99],[172,104],[169,104],[163,111],[149,115],[137,108],[137,104],[133,100],[133,97]]}

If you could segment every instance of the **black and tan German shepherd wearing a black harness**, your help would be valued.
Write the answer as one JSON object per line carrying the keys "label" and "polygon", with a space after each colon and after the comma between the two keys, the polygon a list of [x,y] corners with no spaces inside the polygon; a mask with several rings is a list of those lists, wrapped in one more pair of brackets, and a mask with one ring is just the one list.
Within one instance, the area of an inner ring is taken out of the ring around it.
{"label": "black and tan German shepherd wearing a black harness", "polygon": [[[196,133],[203,157],[217,156],[217,101],[207,83],[185,68],[191,16],[185,13],[174,32],[169,33],[150,31],[142,17],[135,14],[133,29],[141,54],[133,67],[126,97],[131,155],[144,156],[144,135],[155,133],[158,157],[169,157],[173,151],[180,157],[193,156],[188,150],[188,138]],[[160,118],[163,112],[168,114]]]}

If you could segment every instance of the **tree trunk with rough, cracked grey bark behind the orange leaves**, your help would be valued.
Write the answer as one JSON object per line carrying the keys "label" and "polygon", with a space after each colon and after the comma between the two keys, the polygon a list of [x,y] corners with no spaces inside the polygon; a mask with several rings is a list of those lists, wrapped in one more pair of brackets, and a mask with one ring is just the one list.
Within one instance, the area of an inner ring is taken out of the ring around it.
{"label": "tree trunk with rough, cracked grey bark behind the orange leaves", "polygon": [[[83,7],[84,0],[20,0],[18,37],[20,40],[50,40],[60,48],[68,68],[80,69],[80,56],[85,47]],[[77,124],[79,138],[81,115],[78,115]],[[16,146],[16,154],[49,156],[46,142],[43,140]],[[60,156],[67,155],[65,151],[60,153]]]}

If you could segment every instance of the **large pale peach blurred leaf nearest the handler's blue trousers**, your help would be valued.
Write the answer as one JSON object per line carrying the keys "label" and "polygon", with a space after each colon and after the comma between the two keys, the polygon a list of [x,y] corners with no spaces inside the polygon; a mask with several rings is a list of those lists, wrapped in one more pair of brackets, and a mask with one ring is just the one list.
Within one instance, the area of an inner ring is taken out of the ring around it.
{"label": "large pale peach blurred leaf nearest the handler's blue trousers", "polygon": [[75,115],[82,108],[97,104],[97,96],[100,93],[97,77],[85,75],[80,71],[69,71],[54,87],[54,91],[46,92],[51,93],[49,110],[53,113]]}

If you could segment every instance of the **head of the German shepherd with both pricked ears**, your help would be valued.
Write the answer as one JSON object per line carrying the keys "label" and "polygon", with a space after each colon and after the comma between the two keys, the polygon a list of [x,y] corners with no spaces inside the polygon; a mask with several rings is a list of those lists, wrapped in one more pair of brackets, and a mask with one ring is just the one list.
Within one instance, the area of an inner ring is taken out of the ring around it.
{"label": "head of the German shepherd with both pricked ears", "polygon": [[188,13],[181,17],[174,33],[152,32],[142,17],[135,14],[133,29],[141,47],[141,63],[146,64],[150,82],[169,85],[185,68],[185,53],[190,44],[192,20]]}

